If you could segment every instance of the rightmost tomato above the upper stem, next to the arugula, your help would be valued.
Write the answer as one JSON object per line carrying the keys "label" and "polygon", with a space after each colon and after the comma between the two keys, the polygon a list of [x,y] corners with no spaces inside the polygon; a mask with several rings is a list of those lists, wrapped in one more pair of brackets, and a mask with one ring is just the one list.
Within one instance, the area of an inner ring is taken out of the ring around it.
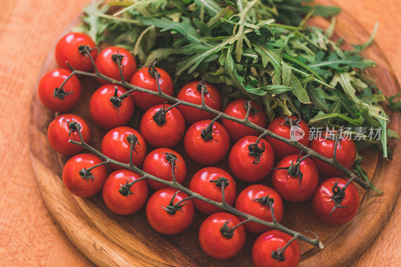
{"label": "rightmost tomato above the upper stem, next to the arugula", "polygon": [[[324,136],[319,135],[317,139],[314,139],[310,142],[309,148],[315,150],[317,153],[331,158],[334,152],[334,140],[329,139],[330,136],[333,136],[335,132],[328,133],[325,132]],[[345,168],[350,169],[355,162],[356,157],[356,147],[355,143],[352,139],[344,137],[342,140],[338,141],[337,150],[336,150],[336,158],[341,165]],[[331,167],[327,163],[323,161],[312,158],[313,162],[316,164],[319,172],[326,176],[336,176],[342,175],[342,172]]]}

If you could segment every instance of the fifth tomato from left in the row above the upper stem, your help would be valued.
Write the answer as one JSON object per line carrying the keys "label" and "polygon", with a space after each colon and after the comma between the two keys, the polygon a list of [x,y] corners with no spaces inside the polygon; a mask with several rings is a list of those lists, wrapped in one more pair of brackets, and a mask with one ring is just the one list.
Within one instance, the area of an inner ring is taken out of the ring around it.
{"label": "fifth tomato from left in the row above the upper stem", "polygon": [[[245,119],[247,115],[247,109],[245,108],[247,106],[247,102],[247,99],[234,100],[225,108],[224,113],[238,119]],[[252,109],[248,118],[249,121],[264,128],[266,126],[266,115],[262,111],[261,106],[254,101],[251,101],[251,107]],[[234,142],[237,142],[241,138],[248,135],[259,135],[258,131],[241,125],[237,122],[222,120],[222,124],[229,133],[231,140]]]}

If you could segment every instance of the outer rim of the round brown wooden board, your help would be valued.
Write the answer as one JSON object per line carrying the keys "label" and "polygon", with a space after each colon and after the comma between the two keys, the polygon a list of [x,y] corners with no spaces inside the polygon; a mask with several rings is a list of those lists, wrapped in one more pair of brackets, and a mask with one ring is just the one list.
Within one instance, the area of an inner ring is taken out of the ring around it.
{"label": "outer rim of the round brown wooden board", "polygon": [[[330,5],[328,0],[321,0],[319,3]],[[75,19],[69,27],[63,31],[66,34],[72,26],[79,22],[79,18]],[[355,37],[360,40],[350,41],[350,43],[361,43],[367,40],[369,34],[363,29],[347,12],[342,12],[337,16],[337,27],[347,22],[347,28],[344,30],[353,30],[358,33]],[[353,27],[349,27],[349,23]],[[327,22],[326,22],[327,23]],[[318,25],[318,24],[317,24]],[[316,26],[317,26],[316,25]],[[356,29],[355,29],[356,28]],[[63,34],[61,36],[63,36]],[[341,37],[341,32],[336,31]],[[377,78],[377,84],[386,84],[388,87],[382,89],[387,95],[400,92],[400,86],[395,78],[394,72],[384,57],[382,51],[375,42],[362,53],[367,58],[375,60],[378,64],[375,69],[369,70],[373,77]],[[54,47],[51,49],[40,74],[44,74],[48,69],[45,67],[53,60]],[[375,76],[376,74],[376,76]],[[380,74],[377,76],[377,74]],[[384,75],[383,75],[384,74]],[[35,84],[35,91],[41,77]],[[35,105],[38,104],[39,105]],[[40,115],[35,116],[35,115]],[[395,113],[389,113],[391,129],[401,133],[399,125],[401,118]],[[38,120],[39,118],[47,118]],[[153,258],[147,256],[135,249],[126,249],[122,244],[117,244],[106,238],[105,235],[97,228],[78,202],[79,198],[74,197],[64,187],[60,178],[62,169],[56,165],[52,165],[54,158],[60,158],[55,151],[51,154],[44,155],[43,151],[39,151],[34,147],[35,142],[47,142],[47,125],[49,119],[54,118],[54,112],[50,112],[44,108],[35,92],[31,104],[31,124],[30,124],[30,150],[32,165],[34,167],[35,176],[38,181],[43,199],[59,226],[66,233],[67,237],[73,244],[93,263],[97,265],[120,265],[120,266],[164,266],[166,264],[162,258]],[[396,200],[401,192],[401,181],[399,179],[379,179],[386,177],[386,169],[392,168],[392,174],[401,173],[401,147],[390,141],[390,146],[394,149],[393,159],[386,161],[382,157],[378,157],[376,168],[372,177],[372,182],[377,188],[380,188],[384,194],[379,195],[373,190],[368,190],[360,201],[360,207],[355,218],[342,227],[336,229],[329,237],[324,240],[325,248],[311,248],[305,251],[301,256],[300,266],[323,266],[323,265],[341,265],[349,264],[355,261],[366,249],[373,239],[378,235],[386,219],[391,214]],[[47,163],[47,164],[46,164]],[[58,168],[55,170],[54,168]],[[54,175],[58,173],[58,176]],[[53,181],[53,182],[49,182]],[[71,212],[71,210],[78,210]],[[375,210],[373,212],[372,210]],[[378,211],[378,212],[377,212]],[[371,223],[371,222],[374,223]],[[369,222],[366,224],[366,222]],[[364,227],[356,227],[363,225]],[[89,226],[89,227],[88,227]],[[77,231],[79,229],[79,231]],[[96,238],[94,238],[96,237]],[[96,240],[96,242],[94,242]],[[345,244],[345,245],[344,245]],[[129,251],[128,251],[129,250]],[[329,261],[329,262],[328,262]],[[178,262],[177,262],[178,263]]]}

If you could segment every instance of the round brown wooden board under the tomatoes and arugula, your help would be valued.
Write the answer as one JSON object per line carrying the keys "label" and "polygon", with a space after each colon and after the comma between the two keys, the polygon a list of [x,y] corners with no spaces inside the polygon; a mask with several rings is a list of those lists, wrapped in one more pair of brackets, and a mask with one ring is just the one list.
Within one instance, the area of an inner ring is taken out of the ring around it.
{"label": "round brown wooden board under the tomatoes and arugula", "polygon": [[[320,1],[329,5],[327,0]],[[71,26],[73,26],[73,23]],[[327,26],[327,22],[316,20],[315,25]],[[65,33],[70,29],[66,29]],[[336,36],[349,43],[362,43],[369,35],[349,14],[342,13],[337,18]],[[363,55],[377,62],[377,67],[369,69],[376,79],[376,84],[387,96],[400,92],[400,87],[393,71],[382,52],[373,44]],[[54,48],[49,52],[39,79],[47,71],[56,68]],[[90,95],[98,84],[95,80],[81,77],[83,94],[78,105],[70,112],[82,116],[92,130],[90,144],[99,148],[101,138],[106,131],[99,130],[88,112]],[[37,90],[36,84],[34,90]],[[138,111],[136,111],[138,112]],[[401,133],[401,118],[389,113],[389,128]],[[90,198],[73,196],[65,188],[61,173],[67,157],[56,153],[47,141],[47,127],[57,114],[47,110],[35,93],[32,99],[32,117],[30,126],[30,149],[35,175],[49,211],[64,230],[74,245],[92,262],[102,266],[249,266],[252,264],[251,249],[256,234],[247,234],[244,249],[234,258],[217,260],[207,256],[199,247],[197,230],[207,215],[196,212],[192,225],[181,234],[166,236],[155,232],[147,223],[144,208],[130,216],[120,216],[109,211],[104,205],[101,194]],[[328,226],[320,222],[313,214],[311,201],[300,204],[285,203],[285,215],[282,223],[292,229],[305,233],[312,230],[319,235],[325,248],[319,250],[309,244],[301,245],[301,266],[335,266],[350,264],[368,247],[378,235],[391,214],[394,203],[401,191],[401,146],[390,141],[394,151],[393,159],[387,161],[372,149],[364,150],[363,166],[383,195],[373,190],[360,192],[360,208],[355,218],[342,226]],[[187,159],[188,174],[186,182],[202,168],[186,157],[182,147],[176,149]],[[148,149],[150,151],[150,149]],[[218,166],[229,170],[227,160]],[[270,177],[261,181],[271,185]],[[247,183],[238,182],[238,192]],[[152,192],[150,192],[152,193]]]}

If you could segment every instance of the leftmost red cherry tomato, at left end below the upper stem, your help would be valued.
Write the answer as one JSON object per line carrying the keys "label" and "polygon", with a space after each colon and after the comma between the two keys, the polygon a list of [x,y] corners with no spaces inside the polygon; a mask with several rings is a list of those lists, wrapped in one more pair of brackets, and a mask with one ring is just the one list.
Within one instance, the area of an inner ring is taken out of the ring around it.
{"label": "leftmost red cherry tomato, at left end below the upper stem", "polygon": [[59,88],[70,74],[69,70],[54,69],[43,75],[39,82],[38,95],[46,108],[53,111],[65,112],[77,104],[81,96],[81,83],[75,75],[63,86],[66,93],[73,92],[72,94],[64,96],[64,99],[53,96],[54,89]]}

